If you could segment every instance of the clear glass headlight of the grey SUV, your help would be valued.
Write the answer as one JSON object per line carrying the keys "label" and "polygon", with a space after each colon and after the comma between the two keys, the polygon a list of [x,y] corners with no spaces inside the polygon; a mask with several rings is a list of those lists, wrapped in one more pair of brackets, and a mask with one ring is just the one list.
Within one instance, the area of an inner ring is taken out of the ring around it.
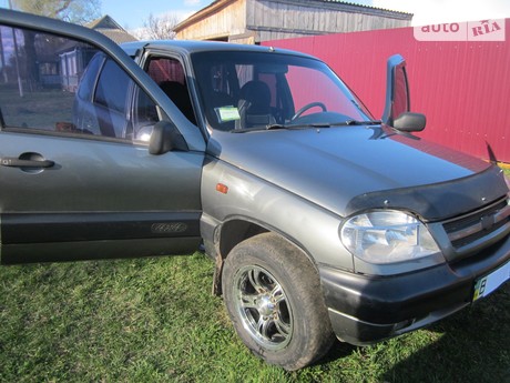
{"label": "clear glass headlight of the grey SUV", "polygon": [[437,254],[427,228],[400,211],[376,211],[350,218],[340,229],[344,245],[370,263],[394,263]]}

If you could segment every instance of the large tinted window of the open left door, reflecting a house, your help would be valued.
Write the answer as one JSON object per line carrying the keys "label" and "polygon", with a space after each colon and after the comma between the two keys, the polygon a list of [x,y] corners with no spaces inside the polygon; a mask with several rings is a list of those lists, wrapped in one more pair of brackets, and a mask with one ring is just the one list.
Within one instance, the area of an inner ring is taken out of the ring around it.
{"label": "large tinted window of the open left door, reflecting a house", "polygon": [[0,28],[2,129],[147,138],[155,104],[111,58],[78,40]]}

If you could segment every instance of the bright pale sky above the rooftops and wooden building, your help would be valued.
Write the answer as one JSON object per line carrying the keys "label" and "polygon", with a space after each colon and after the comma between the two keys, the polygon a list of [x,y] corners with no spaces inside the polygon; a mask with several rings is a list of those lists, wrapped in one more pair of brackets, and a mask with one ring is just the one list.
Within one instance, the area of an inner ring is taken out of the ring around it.
{"label": "bright pale sky above the rooftops and wooden building", "polygon": [[[211,0],[102,0],[102,13],[129,30],[141,28],[149,14],[173,13],[182,20]],[[412,26],[510,18],[509,0],[348,0],[347,2],[415,13]]]}

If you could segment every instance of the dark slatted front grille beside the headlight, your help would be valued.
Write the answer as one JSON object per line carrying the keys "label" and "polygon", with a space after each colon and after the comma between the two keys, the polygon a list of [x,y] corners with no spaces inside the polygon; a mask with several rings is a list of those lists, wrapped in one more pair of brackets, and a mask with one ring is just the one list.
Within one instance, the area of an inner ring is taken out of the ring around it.
{"label": "dark slatted front grille beside the headlight", "polygon": [[443,223],[445,231],[456,250],[465,249],[503,226],[508,226],[508,233],[510,231],[510,205],[507,199]]}

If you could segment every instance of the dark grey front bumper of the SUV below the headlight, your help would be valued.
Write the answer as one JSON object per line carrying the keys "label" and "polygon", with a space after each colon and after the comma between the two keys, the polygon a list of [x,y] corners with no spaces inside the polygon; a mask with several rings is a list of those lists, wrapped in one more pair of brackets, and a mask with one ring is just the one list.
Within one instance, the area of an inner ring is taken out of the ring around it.
{"label": "dark grey front bumper of the SUV below the headlight", "polygon": [[471,304],[475,281],[510,260],[510,236],[455,264],[392,276],[319,265],[333,330],[365,345],[417,330]]}

